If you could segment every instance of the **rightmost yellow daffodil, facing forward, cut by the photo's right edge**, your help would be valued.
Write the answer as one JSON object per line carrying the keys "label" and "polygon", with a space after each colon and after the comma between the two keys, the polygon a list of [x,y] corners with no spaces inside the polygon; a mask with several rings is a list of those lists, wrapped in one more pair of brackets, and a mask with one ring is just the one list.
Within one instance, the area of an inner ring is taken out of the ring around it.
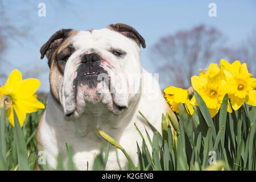
{"label": "rightmost yellow daffodil, facing forward, cut by the photo's right edge", "polygon": [[246,63],[234,61],[229,64],[225,60],[220,63],[224,67],[225,76],[228,77],[226,90],[234,110],[238,110],[243,103],[256,106],[256,78],[251,78]]}

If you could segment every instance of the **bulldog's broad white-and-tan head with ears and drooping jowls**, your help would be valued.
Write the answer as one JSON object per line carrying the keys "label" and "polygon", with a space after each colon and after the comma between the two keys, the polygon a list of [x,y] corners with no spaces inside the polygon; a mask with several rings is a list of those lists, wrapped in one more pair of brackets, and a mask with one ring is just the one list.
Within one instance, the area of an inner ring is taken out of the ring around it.
{"label": "bulldog's broad white-and-tan head with ears and drooping jowls", "polygon": [[78,118],[95,104],[119,114],[138,100],[141,45],[142,36],[121,23],[53,34],[40,53],[48,58],[51,94],[64,114]]}

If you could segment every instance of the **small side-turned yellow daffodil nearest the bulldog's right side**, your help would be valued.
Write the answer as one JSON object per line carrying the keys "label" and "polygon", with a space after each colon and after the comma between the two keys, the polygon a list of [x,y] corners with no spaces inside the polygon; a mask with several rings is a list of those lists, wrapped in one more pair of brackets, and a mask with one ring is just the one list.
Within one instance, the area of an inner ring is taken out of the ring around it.
{"label": "small side-turned yellow daffodil nearest the bulldog's right side", "polygon": [[[172,111],[176,111],[179,113],[178,106],[183,103],[186,104],[189,110],[189,113],[192,115],[194,113],[194,109],[190,104],[189,94],[187,89],[176,88],[174,86],[168,86],[164,93],[166,93],[167,102],[171,104]],[[170,96],[171,95],[171,96]],[[187,108],[186,108],[187,110]],[[187,112],[188,112],[187,110]]]}

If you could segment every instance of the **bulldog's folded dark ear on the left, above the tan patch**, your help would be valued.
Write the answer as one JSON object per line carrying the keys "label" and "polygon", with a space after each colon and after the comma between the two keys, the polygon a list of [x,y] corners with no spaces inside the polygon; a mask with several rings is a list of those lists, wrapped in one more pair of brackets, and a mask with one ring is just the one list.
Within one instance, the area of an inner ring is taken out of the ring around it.
{"label": "bulldog's folded dark ear on the left, above the tan patch", "polygon": [[49,38],[49,40],[43,44],[40,49],[41,59],[44,58],[44,55],[49,59],[51,59],[52,53],[60,46],[60,44],[68,38],[70,35],[69,33],[72,29],[61,29],[57,31],[55,34]]}

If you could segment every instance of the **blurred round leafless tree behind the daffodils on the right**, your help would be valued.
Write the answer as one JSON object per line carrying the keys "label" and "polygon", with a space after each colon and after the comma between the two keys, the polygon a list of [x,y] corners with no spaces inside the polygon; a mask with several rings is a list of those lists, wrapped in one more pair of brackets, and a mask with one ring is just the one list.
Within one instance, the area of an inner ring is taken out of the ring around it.
{"label": "blurred round leafless tree behind the daffodils on the right", "polygon": [[150,50],[160,84],[188,88],[199,68],[220,61],[224,42],[220,31],[204,25],[163,37]]}

